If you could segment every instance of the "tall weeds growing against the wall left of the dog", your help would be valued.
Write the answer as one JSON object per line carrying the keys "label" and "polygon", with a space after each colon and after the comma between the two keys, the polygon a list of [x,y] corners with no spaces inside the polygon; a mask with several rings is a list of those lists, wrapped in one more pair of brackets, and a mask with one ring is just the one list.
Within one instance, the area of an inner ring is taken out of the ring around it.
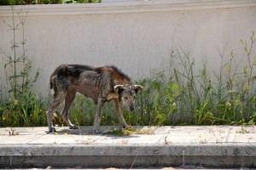
{"label": "tall weeds growing against the wall left of the dog", "polygon": [[[0,126],[37,126],[45,124],[45,115],[42,111],[42,102],[38,95],[32,91],[36,88],[39,72],[32,74],[32,61],[26,54],[25,21],[26,14],[20,10],[15,13],[12,7],[12,20],[5,22],[12,31],[12,54],[7,54],[3,48],[0,52],[3,56],[5,71],[5,93],[2,91],[0,104]],[[22,14],[21,14],[22,13]],[[15,15],[17,14],[17,16]],[[15,17],[19,18],[17,22]],[[21,32],[21,42],[17,40],[17,34]]]}

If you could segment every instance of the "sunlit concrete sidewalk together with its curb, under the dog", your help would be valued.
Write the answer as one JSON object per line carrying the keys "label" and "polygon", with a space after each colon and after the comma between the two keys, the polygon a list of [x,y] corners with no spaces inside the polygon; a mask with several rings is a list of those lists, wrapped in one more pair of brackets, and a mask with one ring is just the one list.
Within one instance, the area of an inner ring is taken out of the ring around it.
{"label": "sunlit concrete sidewalk together with its curb, under the dog", "polygon": [[256,127],[0,128],[0,168],[16,167],[214,167],[256,168]]}

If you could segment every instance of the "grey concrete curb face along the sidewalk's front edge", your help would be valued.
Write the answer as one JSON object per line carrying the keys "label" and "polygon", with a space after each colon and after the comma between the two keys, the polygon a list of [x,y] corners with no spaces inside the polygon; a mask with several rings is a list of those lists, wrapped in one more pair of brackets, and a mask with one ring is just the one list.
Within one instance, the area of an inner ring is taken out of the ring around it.
{"label": "grey concrete curb face along the sidewalk's front edge", "polygon": [[3,144],[0,168],[256,167],[256,144]]}

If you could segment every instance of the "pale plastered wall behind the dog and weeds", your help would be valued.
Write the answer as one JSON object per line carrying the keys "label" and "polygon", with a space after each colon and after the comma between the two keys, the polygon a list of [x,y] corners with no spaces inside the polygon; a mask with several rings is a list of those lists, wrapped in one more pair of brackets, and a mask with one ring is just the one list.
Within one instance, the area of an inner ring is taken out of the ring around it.
{"label": "pale plastered wall behind the dog and weeds", "polygon": [[[207,61],[218,71],[219,52],[234,49],[243,60],[240,40],[256,31],[256,1],[166,0],[99,4],[16,6],[26,14],[26,54],[39,69],[38,90],[47,95],[49,75],[60,64],[117,65],[132,79],[167,70],[172,49],[189,51],[198,68]],[[0,47],[7,54],[10,7],[0,7]],[[4,22],[3,22],[4,20]],[[18,21],[19,18],[15,17]],[[17,42],[21,41],[17,31]],[[18,48],[18,54],[20,54]],[[253,49],[255,54],[255,49]],[[5,84],[0,54],[0,82]]]}

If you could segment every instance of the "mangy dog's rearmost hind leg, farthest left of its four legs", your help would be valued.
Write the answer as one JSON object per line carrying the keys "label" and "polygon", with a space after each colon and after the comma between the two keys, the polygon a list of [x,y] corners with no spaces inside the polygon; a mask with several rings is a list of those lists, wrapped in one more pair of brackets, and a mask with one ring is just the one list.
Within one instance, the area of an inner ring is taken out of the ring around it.
{"label": "mangy dog's rearmost hind leg, farthest left of its four legs", "polygon": [[47,122],[48,122],[48,127],[49,127],[49,133],[55,132],[55,127],[53,126],[52,122],[52,116],[54,114],[55,109],[61,104],[65,97],[64,93],[59,93],[54,95],[54,101],[52,105],[50,106],[49,110],[46,112],[47,115]]}

